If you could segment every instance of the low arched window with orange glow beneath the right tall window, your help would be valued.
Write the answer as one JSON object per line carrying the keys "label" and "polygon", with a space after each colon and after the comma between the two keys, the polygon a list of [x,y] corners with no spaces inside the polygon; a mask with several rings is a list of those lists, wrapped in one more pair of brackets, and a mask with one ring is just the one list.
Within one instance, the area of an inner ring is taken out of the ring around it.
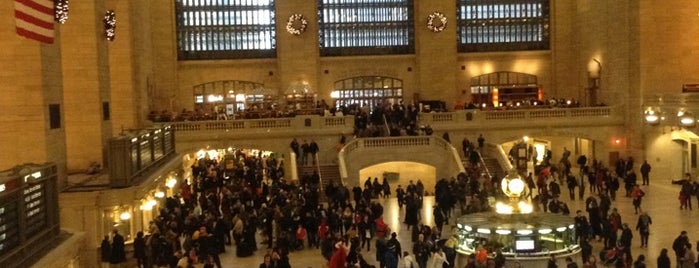
{"label": "low arched window with orange glow beneath the right tall window", "polygon": [[477,105],[538,101],[540,95],[537,77],[531,74],[495,72],[471,78],[471,98]]}

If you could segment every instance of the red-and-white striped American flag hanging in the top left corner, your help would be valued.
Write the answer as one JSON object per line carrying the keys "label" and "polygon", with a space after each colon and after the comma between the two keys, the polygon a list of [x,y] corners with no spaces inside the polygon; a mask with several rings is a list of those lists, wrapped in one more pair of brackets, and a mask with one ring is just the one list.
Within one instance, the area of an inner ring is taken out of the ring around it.
{"label": "red-and-white striped American flag hanging in the top left corner", "polygon": [[53,0],[15,0],[17,34],[53,44]]}

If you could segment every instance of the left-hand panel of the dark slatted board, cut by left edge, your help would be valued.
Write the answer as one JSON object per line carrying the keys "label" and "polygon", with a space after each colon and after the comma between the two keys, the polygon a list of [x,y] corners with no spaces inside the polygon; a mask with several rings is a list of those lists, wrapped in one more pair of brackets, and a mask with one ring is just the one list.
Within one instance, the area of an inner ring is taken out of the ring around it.
{"label": "left-hand panel of the dark slatted board, cut by left edge", "polygon": [[19,245],[19,215],[17,202],[0,199],[0,256]]}

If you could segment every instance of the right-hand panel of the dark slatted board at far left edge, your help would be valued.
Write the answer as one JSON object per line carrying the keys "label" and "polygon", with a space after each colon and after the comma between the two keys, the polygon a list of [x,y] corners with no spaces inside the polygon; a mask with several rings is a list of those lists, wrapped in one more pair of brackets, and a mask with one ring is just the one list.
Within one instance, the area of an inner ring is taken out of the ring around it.
{"label": "right-hand panel of the dark slatted board at far left edge", "polygon": [[44,183],[30,185],[24,189],[24,214],[27,221],[27,234],[46,227],[46,201]]}

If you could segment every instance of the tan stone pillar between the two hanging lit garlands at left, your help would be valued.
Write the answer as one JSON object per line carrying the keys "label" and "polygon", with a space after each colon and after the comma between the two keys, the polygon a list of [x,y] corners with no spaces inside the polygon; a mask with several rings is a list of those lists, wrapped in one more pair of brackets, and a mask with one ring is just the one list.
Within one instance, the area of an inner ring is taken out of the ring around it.
{"label": "tan stone pillar between the two hanging lit garlands at left", "polygon": [[[112,135],[110,121],[103,114],[103,103],[110,102],[110,44],[103,23],[108,8],[103,1],[73,1],[69,21],[61,27],[69,173],[82,172],[92,162],[104,166],[105,144]],[[116,17],[118,40],[119,14]]]}

